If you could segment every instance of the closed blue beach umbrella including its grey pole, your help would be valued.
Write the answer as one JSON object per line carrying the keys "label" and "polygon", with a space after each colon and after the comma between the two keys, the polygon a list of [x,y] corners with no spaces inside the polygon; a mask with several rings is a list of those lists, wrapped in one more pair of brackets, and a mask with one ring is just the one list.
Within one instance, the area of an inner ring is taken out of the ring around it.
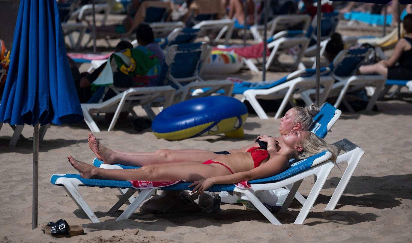
{"label": "closed blue beach umbrella including its grey pole", "polygon": [[34,126],[33,229],[37,227],[38,124],[82,120],[56,0],[21,0],[0,122]]}

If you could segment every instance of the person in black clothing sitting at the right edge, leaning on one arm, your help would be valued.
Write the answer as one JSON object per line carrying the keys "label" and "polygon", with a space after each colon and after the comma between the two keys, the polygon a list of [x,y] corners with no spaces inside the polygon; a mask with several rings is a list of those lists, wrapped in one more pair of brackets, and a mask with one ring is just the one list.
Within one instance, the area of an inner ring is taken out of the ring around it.
{"label": "person in black clothing sitting at the right edge, leaning on one arm", "polygon": [[379,73],[388,79],[412,79],[412,14],[407,14],[403,19],[403,28],[406,35],[396,43],[391,58],[372,65],[360,66],[361,74]]}

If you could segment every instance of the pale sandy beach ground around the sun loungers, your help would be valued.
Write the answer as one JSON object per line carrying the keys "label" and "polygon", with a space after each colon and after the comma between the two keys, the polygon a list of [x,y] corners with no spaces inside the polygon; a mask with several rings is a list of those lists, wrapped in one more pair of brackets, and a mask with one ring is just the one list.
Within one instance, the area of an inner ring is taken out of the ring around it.
{"label": "pale sandy beach ground around the sun loungers", "polygon": [[[374,30],[375,31],[375,30]],[[379,33],[370,31],[368,34]],[[360,35],[361,31],[341,29],[344,34]],[[238,40],[239,41],[239,40]],[[112,40],[112,46],[118,40]],[[104,46],[104,41],[98,44]],[[102,48],[103,49],[103,48]],[[109,50],[109,49],[107,49]],[[90,49],[84,50],[84,52]],[[106,51],[106,53],[109,51]],[[87,70],[82,66],[81,71]],[[277,79],[289,72],[268,72],[267,79]],[[260,80],[249,71],[228,75],[248,81]],[[206,75],[205,79],[225,79]],[[323,210],[342,176],[335,166],[318,199],[302,225],[293,224],[300,204],[293,201],[288,212],[276,213],[283,225],[275,226],[258,211],[244,210],[241,204],[222,204],[220,213],[178,213],[172,215],[143,214],[137,210],[128,220],[115,219],[127,205],[114,214],[107,213],[117,201],[117,189],[81,187],[101,223],[91,223],[77,208],[63,187],[50,183],[54,173],[77,173],[67,156],[91,163],[95,158],[87,144],[89,129],[79,124],[52,125],[40,142],[38,228],[32,230],[32,161],[33,128],[23,129],[25,139],[16,147],[8,147],[12,129],[3,125],[0,131],[0,242],[411,242],[412,241],[412,97],[402,90],[403,100],[377,101],[377,111],[343,113],[325,138],[335,143],[343,138],[361,147],[363,155],[346,187],[337,208]],[[240,98],[240,97],[236,97]],[[139,116],[146,114],[135,107]],[[274,113],[269,113],[269,117]],[[277,136],[280,120],[261,120],[250,114],[244,125],[244,138],[227,138],[223,134],[181,141],[157,139],[150,129],[133,129],[133,118],[118,122],[113,131],[104,116],[98,118],[102,132],[96,137],[106,146],[136,152],[161,148],[201,148],[220,151],[250,144],[260,134]],[[346,163],[339,164],[342,171]],[[299,191],[307,196],[313,178],[303,180]],[[41,226],[60,218],[70,225],[82,225],[85,235],[54,238],[43,234]]]}

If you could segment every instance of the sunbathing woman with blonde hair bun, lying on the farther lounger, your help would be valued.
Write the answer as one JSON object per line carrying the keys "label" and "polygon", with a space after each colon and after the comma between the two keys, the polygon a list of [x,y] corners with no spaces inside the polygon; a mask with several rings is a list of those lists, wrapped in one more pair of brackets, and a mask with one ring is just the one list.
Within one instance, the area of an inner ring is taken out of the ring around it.
{"label": "sunbathing woman with blonde hair bun, lying on the farther lounger", "polygon": [[[285,116],[281,118],[279,124],[279,133],[286,135],[290,130],[307,131],[313,122],[313,117],[319,112],[319,108],[312,103],[307,107],[293,107]],[[262,137],[258,136],[257,139]],[[256,142],[256,139],[255,139]],[[118,150],[110,150],[102,145],[93,134],[89,133],[89,147],[96,154],[97,159],[103,160],[105,164],[124,164],[128,166],[145,166],[148,164],[162,164],[180,161],[199,161],[203,162],[208,159],[213,159],[219,154],[232,154],[238,152],[246,152],[252,147],[258,147],[258,143],[252,143],[240,149],[232,149],[222,152],[214,152],[211,150],[167,150],[161,149],[155,152],[124,152]],[[95,147],[99,150],[96,151]]]}

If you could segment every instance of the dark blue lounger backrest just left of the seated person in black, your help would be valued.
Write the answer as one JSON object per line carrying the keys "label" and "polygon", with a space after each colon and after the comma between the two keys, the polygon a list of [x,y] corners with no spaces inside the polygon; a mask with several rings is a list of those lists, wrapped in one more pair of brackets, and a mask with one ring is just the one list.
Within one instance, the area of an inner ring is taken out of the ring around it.
{"label": "dark blue lounger backrest just left of the seated person in black", "polygon": [[369,56],[370,51],[370,49],[340,51],[329,66],[332,76],[348,77],[353,75],[365,58]]}

